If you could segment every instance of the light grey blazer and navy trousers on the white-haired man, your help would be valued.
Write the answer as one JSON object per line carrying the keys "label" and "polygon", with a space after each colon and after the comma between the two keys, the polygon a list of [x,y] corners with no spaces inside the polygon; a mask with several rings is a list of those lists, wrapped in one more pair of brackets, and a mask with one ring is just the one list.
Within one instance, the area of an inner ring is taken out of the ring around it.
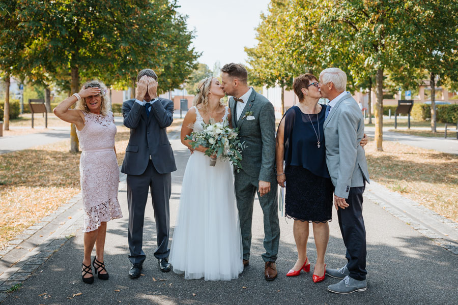
{"label": "light grey blazer and navy trousers on the white-haired man", "polygon": [[362,216],[365,182],[369,182],[366,156],[359,144],[364,136],[364,117],[351,94],[343,96],[324,123],[326,164],[334,194],[350,205],[337,210],[340,232],[347,248],[350,277],[366,279],[366,230]]}

